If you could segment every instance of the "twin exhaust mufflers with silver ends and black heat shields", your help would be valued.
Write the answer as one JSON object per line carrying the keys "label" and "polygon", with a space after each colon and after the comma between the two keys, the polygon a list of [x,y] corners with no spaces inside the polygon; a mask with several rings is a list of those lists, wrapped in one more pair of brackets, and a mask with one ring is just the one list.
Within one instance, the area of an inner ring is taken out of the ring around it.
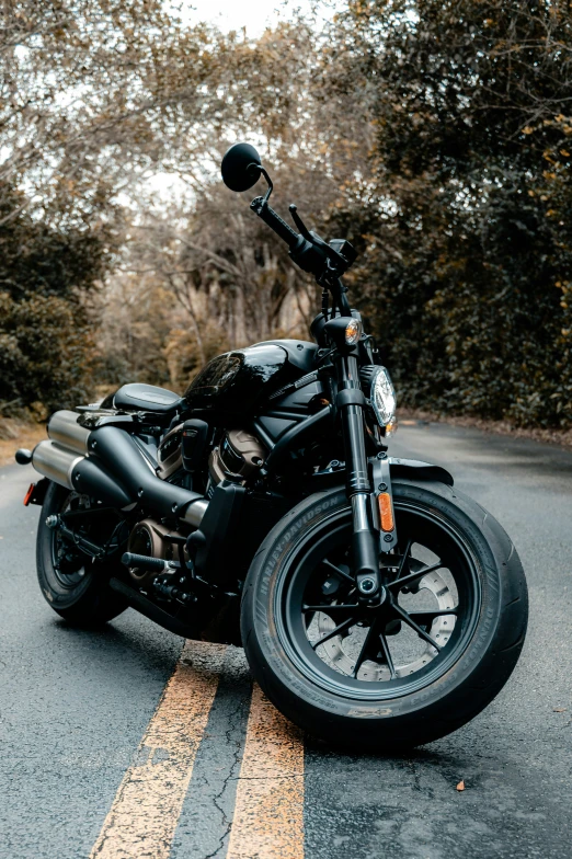
{"label": "twin exhaust mufflers with silver ends and black heat shields", "polygon": [[90,432],[78,424],[78,417],[68,410],[50,417],[49,439],[32,454],[36,471],[114,507],[142,502],[162,516],[176,515],[198,528],[208,507],[206,499],[160,480],[124,430],[102,426]]}

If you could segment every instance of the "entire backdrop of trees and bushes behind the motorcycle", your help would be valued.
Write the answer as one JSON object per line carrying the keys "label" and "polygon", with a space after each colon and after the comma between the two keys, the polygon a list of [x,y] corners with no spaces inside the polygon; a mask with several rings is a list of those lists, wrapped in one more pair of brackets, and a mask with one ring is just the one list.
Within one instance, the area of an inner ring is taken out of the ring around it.
{"label": "entire backdrop of trees and bushes behind the motorcycle", "polygon": [[[173,10],[4,10],[0,404],[83,399],[88,373],[181,388],[227,342],[295,330],[312,288],[211,170],[253,134],[278,209],[361,251],[402,403],[572,425],[570,4],[347,0],[255,42]],[[145,198],[161,171],[188,202]]]}

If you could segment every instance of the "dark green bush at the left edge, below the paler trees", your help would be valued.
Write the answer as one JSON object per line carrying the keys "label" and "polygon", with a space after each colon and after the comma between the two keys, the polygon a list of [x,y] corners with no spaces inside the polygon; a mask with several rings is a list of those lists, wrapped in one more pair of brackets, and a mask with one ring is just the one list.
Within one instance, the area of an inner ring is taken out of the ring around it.
{"label": "dark green bush at the left edge, below the paler trees", "polygon": [[7,183],[0,199],[0,410],[72,405],[89,396],[93,352],[81,296],[110,265],[110,237],[32,218]]}

